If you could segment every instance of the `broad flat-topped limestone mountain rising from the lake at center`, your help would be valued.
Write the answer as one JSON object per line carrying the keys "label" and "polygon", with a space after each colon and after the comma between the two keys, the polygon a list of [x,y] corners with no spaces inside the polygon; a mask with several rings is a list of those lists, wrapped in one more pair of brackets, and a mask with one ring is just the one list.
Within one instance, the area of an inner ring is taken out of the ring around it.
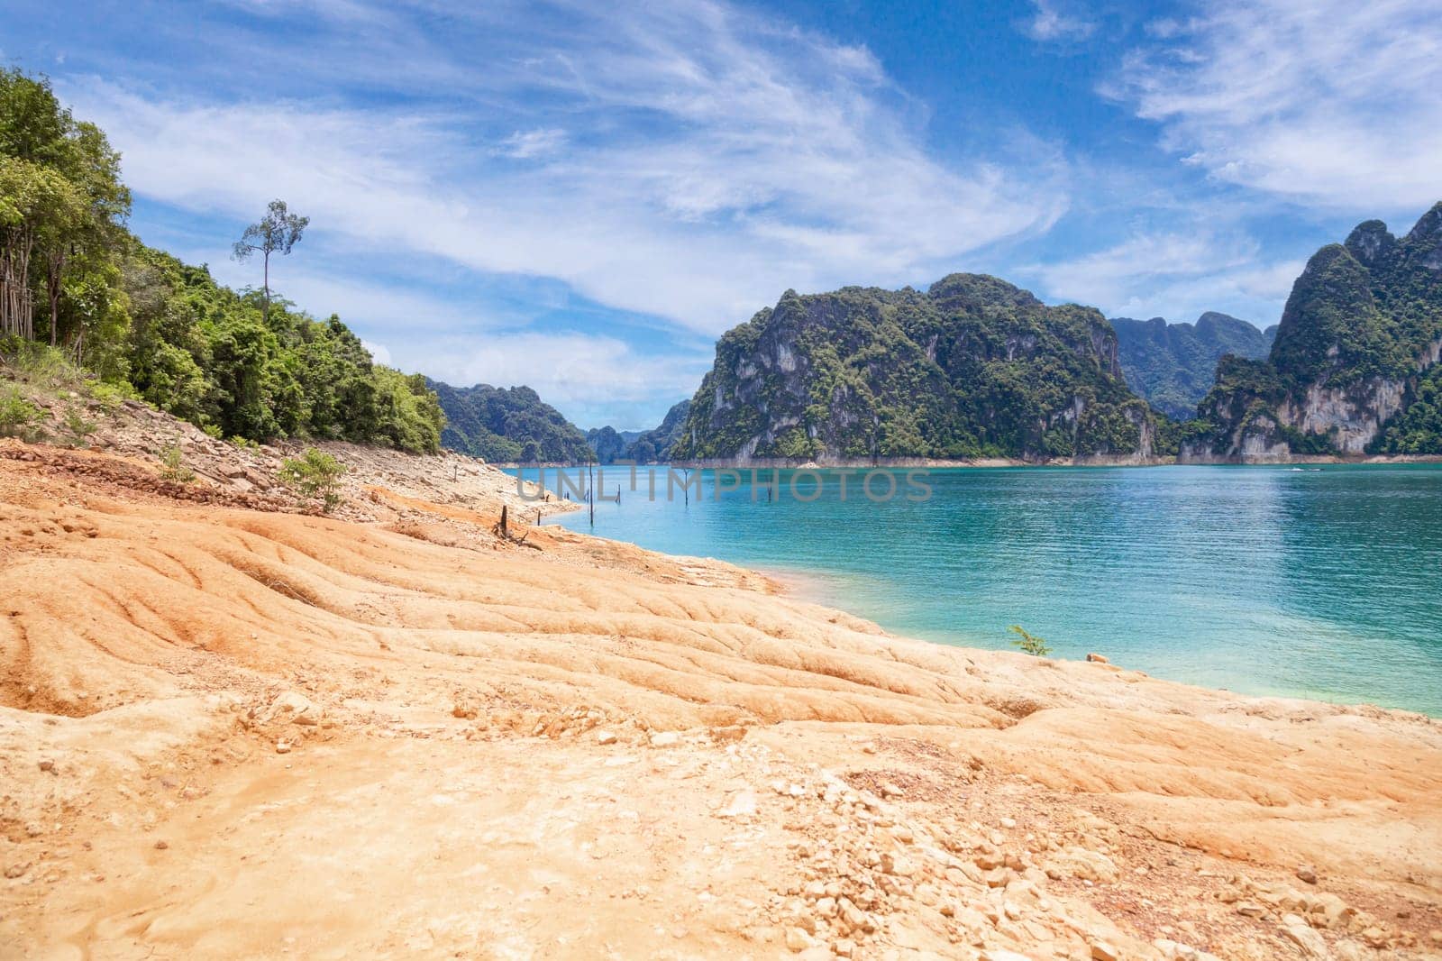
{"label": "broad flat-topped limestone mountain rising from the lake at center", "polygon": [[675,459],[1145,459],[1154,416],[1096,310],[995,277],[799,296],[728,330]]}

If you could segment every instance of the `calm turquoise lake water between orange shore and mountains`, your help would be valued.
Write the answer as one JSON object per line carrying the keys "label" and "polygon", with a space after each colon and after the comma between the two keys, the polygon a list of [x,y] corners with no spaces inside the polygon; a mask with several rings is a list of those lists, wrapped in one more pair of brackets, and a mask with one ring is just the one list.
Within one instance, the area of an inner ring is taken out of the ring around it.
{"label": "calm turquoise lake water between orange shore and mountains", "polygon": [[[587,512],[547,522],[805,574],[809,597],[898,635],[1004,648],[1018,623],[1057,657],[1442,716],[1438,465],[945,469],[920,502],[897,470],[881,504],[859,473],[842,501],[841,473],[783,470],[771,502],[748,475],[717,498],[698,473],[684,504],[679,489],[666,499],[665,469],[656,501],[646,469],[636,492],[609,469],[622,502],[597,502],[594,527]],[[792,496],[796,473],[802,498],[819,475],[815,501]]]}

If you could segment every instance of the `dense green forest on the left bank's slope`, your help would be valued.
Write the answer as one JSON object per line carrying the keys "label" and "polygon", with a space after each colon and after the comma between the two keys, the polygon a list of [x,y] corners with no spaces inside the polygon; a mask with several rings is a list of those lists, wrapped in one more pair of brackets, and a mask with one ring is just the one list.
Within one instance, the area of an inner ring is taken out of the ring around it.
{"label": "dense green forest on the left bank's slope", "polygon": [[146,247],[125,228],[130,202],[104,131],[43,78],[0,71],[6,352],[52,345],[216,436],[438,449],[444,417],[424,378],[373,364],[339,317],[297,310],[268,276],[262,291],[235,291]]}

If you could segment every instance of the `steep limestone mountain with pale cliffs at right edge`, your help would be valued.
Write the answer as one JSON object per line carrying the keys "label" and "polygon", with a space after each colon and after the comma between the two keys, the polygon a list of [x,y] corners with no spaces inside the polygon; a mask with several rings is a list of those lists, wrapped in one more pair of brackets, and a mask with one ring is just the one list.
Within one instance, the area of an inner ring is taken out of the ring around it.
{"label": "steep limestone mountain with pale cliffs at right edge", "polygon": [[1224,358],[1190,462],[1442,453],[1442,203],[1402,238],[1381,221],[1312,255],[1266,361]]}

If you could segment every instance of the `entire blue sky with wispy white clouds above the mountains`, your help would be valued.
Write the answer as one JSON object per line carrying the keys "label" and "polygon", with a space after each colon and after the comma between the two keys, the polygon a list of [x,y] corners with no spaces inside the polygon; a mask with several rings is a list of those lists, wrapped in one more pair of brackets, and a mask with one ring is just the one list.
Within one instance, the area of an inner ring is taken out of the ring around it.
{"label": "entire blue sky with wispy white clouds above the mountains", "polygon": [[1442,199],[1435,0],[0,12],[143,240],[254,284],[226,251],[284,198],[281,294],[583,427],[658,423],[787,287],[983,271],[1265,326],[1317,247]]}

